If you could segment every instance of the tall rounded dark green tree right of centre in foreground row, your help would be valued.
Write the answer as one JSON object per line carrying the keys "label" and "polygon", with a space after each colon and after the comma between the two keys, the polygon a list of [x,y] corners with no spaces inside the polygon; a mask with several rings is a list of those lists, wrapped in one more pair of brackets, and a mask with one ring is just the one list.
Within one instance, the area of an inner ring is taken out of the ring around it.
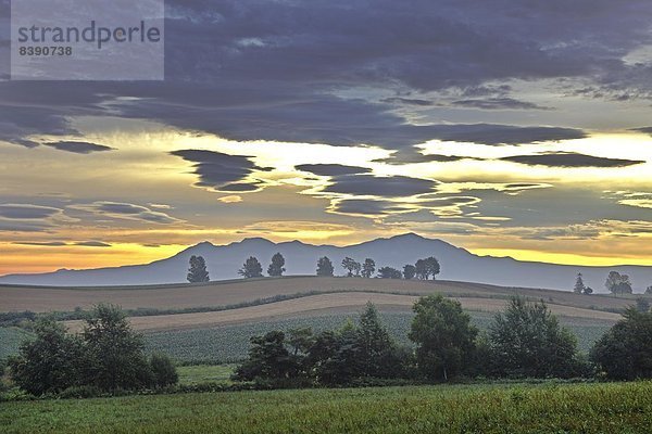
{"label": "tall rounded dark green tree right of centre in foreground row", "polygon": [[464,373],[475,350],[478,330],[460,302],[441,294],[422,297],[414,304],[416,316],[409,337],[416,344],[419,370],[430,380]]}

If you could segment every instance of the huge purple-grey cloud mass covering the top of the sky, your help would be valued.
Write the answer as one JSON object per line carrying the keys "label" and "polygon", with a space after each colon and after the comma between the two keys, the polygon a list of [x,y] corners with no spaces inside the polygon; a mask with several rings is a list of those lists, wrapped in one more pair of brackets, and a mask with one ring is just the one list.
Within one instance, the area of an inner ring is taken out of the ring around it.
{"label": "huge purple-grey cloud mass covering the top of the sky", "polygon": [[473,100],[511,90],[491,82],[546,78],[650,89],[649,68],[622,61],[651,42],[647,0],[176,0],[166,11],[165,82],[1,82],[0,139],[33,146],[33,135],[74,133],[70,117],[111,115],[235,140],[519,144],[584,133],[414,126],[376,103],[383,95],[343,95],[409,90],[397,97],[404,105],[426,105],[427,92],[455,88]]}

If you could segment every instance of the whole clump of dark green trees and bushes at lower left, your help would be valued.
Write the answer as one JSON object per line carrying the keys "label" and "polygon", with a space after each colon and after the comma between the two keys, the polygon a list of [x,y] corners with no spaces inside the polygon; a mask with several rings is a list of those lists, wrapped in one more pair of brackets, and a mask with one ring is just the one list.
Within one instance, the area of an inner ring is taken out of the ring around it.
{"label": "whole clump of dark green trees and bushes at lower left", "polygon": [[80,335],[68,334],[52,319],[39,319],[35,333],[9,360],[13,381],[33,395],[82,386],[108,392],[138,390],[177,381],[167,357],[146,357],[142,337],[115,306],[97,306]]}

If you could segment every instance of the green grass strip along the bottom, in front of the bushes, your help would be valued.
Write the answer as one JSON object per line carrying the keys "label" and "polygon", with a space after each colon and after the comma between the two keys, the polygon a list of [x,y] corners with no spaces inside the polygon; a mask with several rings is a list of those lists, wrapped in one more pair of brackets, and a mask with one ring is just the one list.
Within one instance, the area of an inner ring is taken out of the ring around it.
{"label": "green grass strip along the bottom, in front of the bushes", "polygon": [[4,433],[650,433],[652,383],[455,385],[7,403]]}

